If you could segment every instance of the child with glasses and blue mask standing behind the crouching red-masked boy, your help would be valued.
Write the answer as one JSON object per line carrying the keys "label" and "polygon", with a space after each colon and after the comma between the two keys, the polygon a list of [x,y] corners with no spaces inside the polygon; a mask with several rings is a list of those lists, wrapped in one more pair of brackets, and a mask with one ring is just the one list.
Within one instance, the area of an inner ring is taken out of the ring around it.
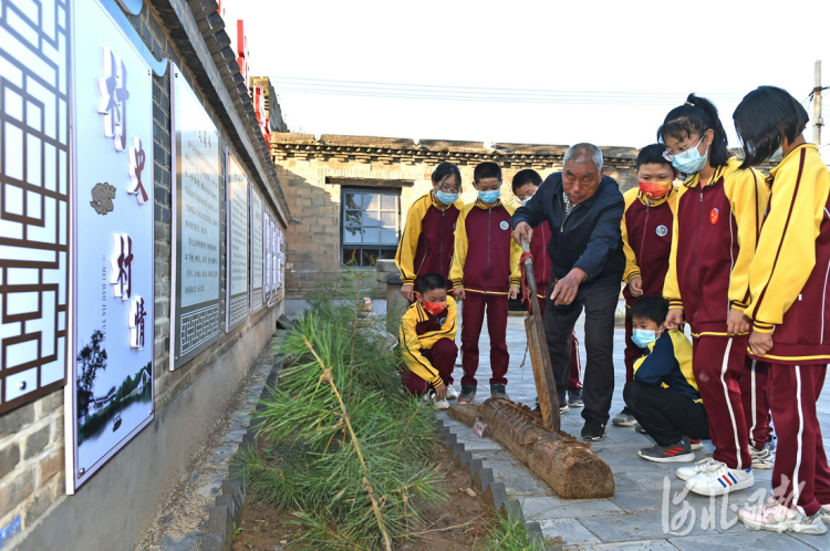
{"label": "child with glasses and blue mask standing behind the crouching red-masked boy", "polygon": [[[424,273],[449,277],[455,227],[464,202],[461,173],[453,163],[440,163],[432,176],[433,190],[418,197],[406,215],[406,226],[395,254],[406,300],[415,300],[418,278]],[[450,287],[452,290],[452,287]]]}

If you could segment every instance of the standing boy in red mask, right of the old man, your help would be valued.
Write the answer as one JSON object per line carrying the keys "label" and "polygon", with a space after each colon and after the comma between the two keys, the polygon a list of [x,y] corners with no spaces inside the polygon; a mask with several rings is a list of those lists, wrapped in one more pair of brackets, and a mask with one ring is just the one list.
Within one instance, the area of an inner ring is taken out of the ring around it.
{"label": "standing boy in red mask, right of the old man", "polygon": [[[625,251],[623,289],[626,310],[644,294],[663,294],[668,253],[672,250],[672,228],[677,193],[674,188],[674,168],[663,157],[661,144],[643,147],[637,154],[637,187],[623,194],[625,212],[620,223]],[[625,316],[625,383],[634,375],[634,362],[643,351],[631,340],[631,316]],[[630,427],[635,416],[625,406],[612,420],[614,425]]]}

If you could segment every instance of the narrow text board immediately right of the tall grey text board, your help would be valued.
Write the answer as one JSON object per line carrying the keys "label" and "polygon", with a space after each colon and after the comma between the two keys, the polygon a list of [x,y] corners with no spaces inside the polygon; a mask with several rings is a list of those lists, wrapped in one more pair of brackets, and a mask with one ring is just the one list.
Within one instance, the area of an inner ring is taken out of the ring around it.
{"label": "narrow text board immediately right of the tall grey text board", "polygon": [[248,177],[236,156],[226,147],[228,193],[225,289],[225,331],[248,319]]}

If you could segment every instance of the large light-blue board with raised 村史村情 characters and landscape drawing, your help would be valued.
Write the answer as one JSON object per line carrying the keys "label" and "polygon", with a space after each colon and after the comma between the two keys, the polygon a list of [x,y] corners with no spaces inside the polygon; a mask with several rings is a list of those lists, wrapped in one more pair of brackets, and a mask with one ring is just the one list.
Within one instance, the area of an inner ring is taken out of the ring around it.
{"label": "large light-blue board with raised \u6751\u53f2\u6751\u60c5 characters and landscape drawing", "polygon": [[73,13],[70,492],[153,420],[155,357],[151,70],[97,0]]}

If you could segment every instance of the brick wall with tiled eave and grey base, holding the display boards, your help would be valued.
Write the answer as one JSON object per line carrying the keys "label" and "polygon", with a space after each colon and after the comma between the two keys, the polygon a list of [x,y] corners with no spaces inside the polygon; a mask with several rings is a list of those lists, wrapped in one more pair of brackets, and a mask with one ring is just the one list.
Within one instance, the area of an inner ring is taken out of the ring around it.
{"label": "brick wall with tiled eave and grey base, holding the display boards", "polygon": [[[252,106],[248,108],[248,93],[243,86],[234,87],[238,65],[232,66],[236,61],[222,62],[227,56],[222,53],[222,22],[211,18],[209,29],[204,23],[216,9],[211,0],[149,0],[139,15],[128,19],[157,59],[168,58],[179,66],[216,123],[221,150],[228,145],[240,158],[252,185],[284,225],[290,210],[268,145],[256,116],[249,115]],[[3,549],[134,547],[136,536],[158,512],[155,503],[163,501],[181,476],[190,448],[211,428],[214,416],[232,396],[282,312],[282,301],[278,300],[274,308],[262,309],[231,333],[222,333],[215,345],[191,362],[168,371],[173,189],[169,81],[169,70],[153,79],[156,419],[77,495],[66,496],[64,391],[0,415],[0,533],[6,528],[20,532],[8,541],[0,539],[0,547],[8,545]],[[221,208],[224,262],[225,201]],[[224,304],[225,270],[220,273]]]}

